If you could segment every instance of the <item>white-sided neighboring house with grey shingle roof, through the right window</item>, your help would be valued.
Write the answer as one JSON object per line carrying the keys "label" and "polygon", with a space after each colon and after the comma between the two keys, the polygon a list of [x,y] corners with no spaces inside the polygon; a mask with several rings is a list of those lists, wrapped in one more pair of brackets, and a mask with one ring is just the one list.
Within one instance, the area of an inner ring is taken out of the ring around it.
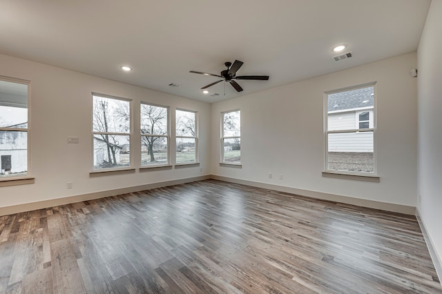
{"label": "white-sided neighboring house with grey shingle roof, through the right window", "polygon": [[[373,88],[339,92],[328,96],[328,130],[374,128]],[[373,133],[329,135],[329,152],[373,152]]]}

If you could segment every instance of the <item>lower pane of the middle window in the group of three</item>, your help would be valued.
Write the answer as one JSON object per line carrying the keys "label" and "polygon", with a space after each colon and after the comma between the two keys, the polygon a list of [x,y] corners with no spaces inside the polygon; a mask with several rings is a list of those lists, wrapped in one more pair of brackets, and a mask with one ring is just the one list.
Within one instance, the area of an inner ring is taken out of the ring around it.
{"label": "lower pane of the middle window in the group of three", "polygon": [[167,138],[141,136],[141,165],[167,164]]}

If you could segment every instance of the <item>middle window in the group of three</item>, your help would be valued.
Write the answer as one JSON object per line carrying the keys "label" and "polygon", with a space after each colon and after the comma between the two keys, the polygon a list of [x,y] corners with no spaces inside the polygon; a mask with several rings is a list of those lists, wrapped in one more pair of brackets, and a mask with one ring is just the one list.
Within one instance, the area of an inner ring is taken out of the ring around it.
{"label": "middle window in the group of three", "polygon": [[169,108],[141,104],[141,165],[169,164]]}

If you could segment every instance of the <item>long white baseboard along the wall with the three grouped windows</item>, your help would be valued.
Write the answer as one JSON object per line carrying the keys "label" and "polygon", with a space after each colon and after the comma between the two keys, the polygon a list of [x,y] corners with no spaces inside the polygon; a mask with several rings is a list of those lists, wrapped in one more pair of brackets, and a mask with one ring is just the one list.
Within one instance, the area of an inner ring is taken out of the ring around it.
{"label": "long white baseboard along the wall with the three grouped windows", "polygon": [[12,215],[13,213],[23,213],[24,211],[36,210],[36,209],[41,209],[41,208],[48,208],[48,207],[59,206],[59,205],[64,205],[64,204],[71,204],[71,203],[75,203],[75,202],[99,199],[99,198],[104,198],[104,197],[109,197],[109,196],[120,195],[120,194],[133,193],[133,192],[138,192],[138,191],[148,190],[148,189],[153,189],[153,188],[161,188],[161,187],[166,187],[166,186],[173,186],[173,185],[178,185],[178,184],[197,182],[197,181],[202,181],[203,179],[210,179],[210,178],[211,178],[210,175],[203,175],[200,177],[189,177],[186,179],[175,179],[175,180],[166,181],[166,182],[158,182],[158,183],[153,183],[153,184],[146,184],[146,185],[140,185],[140,186],[127,187],[127,188],[105,190],[105,191],[95,192],[95,193],[87,193],[87,194],[83,194],[83,195],[75,195],[75,196],[63,197],[63,198],[57,198],[57,199],[49,199],[49,200],[44,200],[44,201],[39,201],[39,202],[17,204],[14,206],[0,207],[0,216]]}

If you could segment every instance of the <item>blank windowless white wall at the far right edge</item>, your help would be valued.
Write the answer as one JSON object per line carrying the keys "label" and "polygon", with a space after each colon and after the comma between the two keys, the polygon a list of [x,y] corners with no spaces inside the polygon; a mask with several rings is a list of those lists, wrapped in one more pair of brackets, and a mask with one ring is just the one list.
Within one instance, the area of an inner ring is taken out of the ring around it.
{"label": "blank windowless white wall at the far right edge", "polygon": [[[419,43],[419,148],[417,203],[442,265],[442,1],[432,0]],[[439,273],[442,275],[442,272]]]}

